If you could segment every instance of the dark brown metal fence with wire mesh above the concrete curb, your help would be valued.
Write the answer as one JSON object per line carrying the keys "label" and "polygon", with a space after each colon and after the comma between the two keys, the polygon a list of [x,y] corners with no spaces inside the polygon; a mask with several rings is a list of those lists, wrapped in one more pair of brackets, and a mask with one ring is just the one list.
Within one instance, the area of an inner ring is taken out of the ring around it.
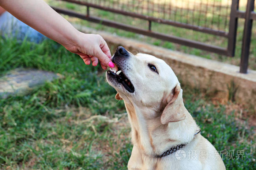
{"label": "dark brown metal fence with wire mesh above the concrete curb", "polygon": [[[252,21],[256,20],[254,12],[255,0],[248,0],[246,11],[239,11],[239,0],[61,0],[87,6],[87,14],[81,14],[67,9],[52,7],[59,13],[80,19],[101,23],[114,28],[140,33],[150,37],[171,41],[189,47],[199,48],[234,56],[237,20],[245,19],[244,36],[240,72],[246,73],[248,68],[249,47],[251,42]],[[90,15],[90,7],[136,17],[148,21],[148,29],[142,29],[127,24],[101,19]],[[208,45],[199,41],[184,39],[151,30],[152,22],[173,25],[211,35],[225,37],[227,47]]]}

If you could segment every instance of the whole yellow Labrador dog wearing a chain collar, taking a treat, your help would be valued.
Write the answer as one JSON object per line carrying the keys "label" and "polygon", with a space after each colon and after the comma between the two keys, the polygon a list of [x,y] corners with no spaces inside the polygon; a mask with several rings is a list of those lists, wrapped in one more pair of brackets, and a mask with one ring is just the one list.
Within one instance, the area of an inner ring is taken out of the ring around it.
{"label": "whole yellow Labrador dog wearing a chain collar, taking a treat", "polygon": [[116,99],[124,100],[132,130],[129,170],[223,170],[217,150],[182,100],[180,83],[161,59],[118,47],[106,72]]}

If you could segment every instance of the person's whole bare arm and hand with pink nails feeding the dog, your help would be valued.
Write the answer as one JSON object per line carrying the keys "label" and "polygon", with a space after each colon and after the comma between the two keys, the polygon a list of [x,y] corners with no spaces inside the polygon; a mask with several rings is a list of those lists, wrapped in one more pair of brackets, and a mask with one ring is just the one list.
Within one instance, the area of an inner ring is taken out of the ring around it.
{"label": "person's whole bare arm and hand with pink nails feeding the dog", "polygon": [[[85,64],[114,67],[106,41],[95,34],[79,32],[43,0],[0,0],[0,6],[17,19],[78,54]],[[3,11],[3,10],[2,10]]]}

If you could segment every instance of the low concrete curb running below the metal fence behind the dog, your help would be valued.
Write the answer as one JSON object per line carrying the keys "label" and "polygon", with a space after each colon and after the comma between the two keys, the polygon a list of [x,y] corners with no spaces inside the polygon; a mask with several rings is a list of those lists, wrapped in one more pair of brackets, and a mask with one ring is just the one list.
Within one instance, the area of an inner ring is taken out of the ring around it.
{"label": "low concrete curb running below the metal fence behind the dog", "polygon": [[248,70],[248,74],[241,74],[238,66],[168,50],[82,25],[73,25],[82,32],[100,34],[109,46],[123,46],[133,54],[141,52],[165,60],[182,84],[199,88],[222,103],[233,98],[236,103],[256,110],[255,70]]}

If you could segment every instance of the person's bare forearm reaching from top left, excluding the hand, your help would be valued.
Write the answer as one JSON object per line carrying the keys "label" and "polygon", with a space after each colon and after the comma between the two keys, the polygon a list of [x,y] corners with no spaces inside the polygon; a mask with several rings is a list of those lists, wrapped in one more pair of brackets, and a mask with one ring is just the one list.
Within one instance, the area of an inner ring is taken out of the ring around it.
{"label": "person's bare forearm reaching from top left, excluding the hand", "polygon": [[0,6],[65,47],[78,38],[78,31],[43,0],[0,0]]}

